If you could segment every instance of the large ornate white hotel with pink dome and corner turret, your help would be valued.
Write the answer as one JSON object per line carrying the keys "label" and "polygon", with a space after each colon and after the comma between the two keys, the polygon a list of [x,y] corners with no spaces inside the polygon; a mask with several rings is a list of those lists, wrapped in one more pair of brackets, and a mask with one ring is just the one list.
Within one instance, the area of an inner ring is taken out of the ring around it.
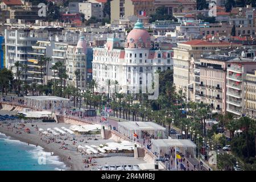
{"label": "large ornate white hotel with pink dome and corner turret", "polygon": [[172,69],[171,51],[151,47],[150,34],[143,23],[137,22],[127,36],[125,48],[118,38],[109,38],[104,48],[94,48],[93,79],[99,81],[98,92],[108,93],[108,80],[117,80],[123,93],[135,93],[146,86],[149,74]]}

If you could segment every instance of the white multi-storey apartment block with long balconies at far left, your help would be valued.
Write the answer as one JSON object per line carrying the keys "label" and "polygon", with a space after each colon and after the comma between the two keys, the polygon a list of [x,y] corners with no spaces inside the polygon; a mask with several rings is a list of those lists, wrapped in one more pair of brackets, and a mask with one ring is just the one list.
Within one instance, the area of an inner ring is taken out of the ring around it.
{"label": "white multi-storey apartment block with long balconies at far left", "polygon": [[16,73],[16,61],[27,64],[28,52],[32,52],[38,40],[47,40],[48,32],[29,28],[10,28],[5,30],[5,67]]}

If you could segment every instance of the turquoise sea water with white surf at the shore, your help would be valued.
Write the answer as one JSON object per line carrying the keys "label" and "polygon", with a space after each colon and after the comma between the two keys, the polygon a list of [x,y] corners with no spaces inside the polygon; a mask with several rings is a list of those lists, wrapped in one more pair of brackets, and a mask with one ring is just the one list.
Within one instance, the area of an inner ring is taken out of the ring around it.
{"label": "turquoise sea water with white surf at the shore", "polygon": [[54,171],[67,170],[59,156],[44,152],[33,144],[11,139],[0,133],[0,171]]}

